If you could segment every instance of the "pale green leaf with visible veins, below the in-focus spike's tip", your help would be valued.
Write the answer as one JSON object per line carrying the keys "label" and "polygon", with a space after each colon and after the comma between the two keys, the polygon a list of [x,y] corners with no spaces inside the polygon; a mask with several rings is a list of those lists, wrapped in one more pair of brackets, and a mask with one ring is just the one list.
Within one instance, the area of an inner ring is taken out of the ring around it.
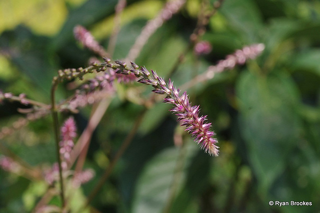
{"label": "pale green leaf with visible veins, below the in-focus spike's tip", "polygon": [[[182,150],[176,147],[164,149],[146,163],[136,183],[132,213],[160,213],[171,202],[173,188],[179,191],[185,181],[183,167],[187,168],[191,157],[197,153],[197,146],[192,141],[187,140],[185,146]],[[179,152],[184,152],[185,157]],[[181,160],[183,166],[176,173],[177,161]],[[179,176],[178,182],[173,181],[175,175]]]}

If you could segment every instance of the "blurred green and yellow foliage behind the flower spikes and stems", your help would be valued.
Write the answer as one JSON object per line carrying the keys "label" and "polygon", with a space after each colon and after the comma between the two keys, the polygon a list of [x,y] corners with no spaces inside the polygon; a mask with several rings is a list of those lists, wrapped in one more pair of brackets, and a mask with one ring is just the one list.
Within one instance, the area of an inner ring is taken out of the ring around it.
{"label": "blurred green and yellow foliage behind the flower spikes and stems", "polygon": [[[87,27],[106,48],[116,0],[0,0],[0,89],[49,103],[51,79],[60,68],[85,67],[92,56],[73,38],[76,24]],[[163,0],[127,0],[113,59],[126,56],[146,21]],[[188,44],[200,0],[182,10],[151,36],[136,59],[166,76]],[[219,140],[219,157],[208,156],[181,132],[175,115],[154,104],[92,206],[101,212],[211,213],[320,211],[320,1],[224,0],[210,18],[203,39],[210,54],[185,61],[171,77],[176,86],[244,45],[262,42],[256,60],[216,74],[188,89],[192,104],[208,115]],[[91,140],[85,167],[96,176],[76,193],[87,196],[120,147],[142,107],[130,101],[138,84],[117,85]],[[67,83],[57,97],[66,98]],[[21,116],[13,102],[0,105],[0,127]],[[79,132],[90,113],[75,114]],[[67,115],[61,115],[61,121]],[[55,161],[50,116],[0,141],[31,166]],[[3,150],[0,150],[3,153]],[[43,195],[43,182],[0,170],[0,212],[29,212]],[[55,204],[58,198],[50,201]],[[277,207],[269,201],[305,201],[312,206]],[[75,201],[72,205],[78,205]]]}

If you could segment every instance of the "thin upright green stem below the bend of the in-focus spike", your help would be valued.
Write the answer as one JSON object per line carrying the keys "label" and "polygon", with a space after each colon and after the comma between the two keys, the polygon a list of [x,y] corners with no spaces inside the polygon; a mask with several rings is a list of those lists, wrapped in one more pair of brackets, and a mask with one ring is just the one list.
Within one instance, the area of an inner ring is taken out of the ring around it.
{"label": "thin upright green stem below the bend of the in-focus spike", "polygon": [[53,132],[54,132],[54,139],[55,139],[55,148],[56,148],[56,158],[58,161],[59,166],[59,178],[60,178],[60,197],[62,202],[62,208],[65,206],[64,200],[64,189],[63,189],[63,178],[62,178],[62,167],[61,167],[61,159],[60,159],[60,152],[59,152],[59,124],[58,124],[58,114],[55,108],[55,89],[57,86],[57,81],[53,80],[52,87],[51,87],[51,114],[53,119]]}

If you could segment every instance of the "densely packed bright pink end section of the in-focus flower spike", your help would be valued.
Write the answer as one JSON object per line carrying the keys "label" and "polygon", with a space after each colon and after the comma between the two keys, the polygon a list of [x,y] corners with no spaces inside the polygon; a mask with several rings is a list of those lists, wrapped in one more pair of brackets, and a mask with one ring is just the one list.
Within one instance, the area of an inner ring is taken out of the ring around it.
{"label": "densely packed bright pink end section of the in-focus flower spike", "polygon": [[177,113],[178,121],[182,121],[181,126],[186,126],[185,131],[195,138],[195,142],[200,145],[205,152],[218,156],[217,140],[213,138],[214,132],[210,131],[211,123],[204,123],[206,116],[199,116],[199,106],[191,106],[186,92],[179,95],[179,90],[173,87],[171,80],[168,83],[171,96],[164,98],[165,103],[174,104],[170,111]]}

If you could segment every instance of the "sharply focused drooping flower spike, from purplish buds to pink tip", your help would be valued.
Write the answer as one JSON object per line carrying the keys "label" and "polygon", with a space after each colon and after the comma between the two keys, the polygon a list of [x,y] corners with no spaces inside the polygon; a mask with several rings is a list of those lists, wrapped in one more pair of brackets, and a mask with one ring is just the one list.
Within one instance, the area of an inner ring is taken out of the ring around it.
{"label": "sharply focused drooping flower spike, from purplish buds to pink tip", "polygon": [[[199,106],[191,106],[186,92],[179,95],[179,90],[173,87],[171,80],[168,86],[163,78],[159,77],[154,70],[151,73],[145,68],[140,67],[131,62],[133,69],[128,69],[126,66],[121,66],[121,63],[116,62],[119,66],[114,68],[119,69],[120,74],[133,73],[136,77],[140,77],[139,83],[151,85],[154,89],[152,92],[157,94],[165,94],[163,102],[175,105],[172,112],[178,116],[178,121],[182,121],[182,126],[186,126],[186,131],[192,135],[194,141],[200,145],[205,152],[210,155],[218,156],[217,140],[213,138],[214,132],[210,131],[211,123],[204,123],[206,116],[199,116]],[[112,67],[112,66],[110,66]]]}

